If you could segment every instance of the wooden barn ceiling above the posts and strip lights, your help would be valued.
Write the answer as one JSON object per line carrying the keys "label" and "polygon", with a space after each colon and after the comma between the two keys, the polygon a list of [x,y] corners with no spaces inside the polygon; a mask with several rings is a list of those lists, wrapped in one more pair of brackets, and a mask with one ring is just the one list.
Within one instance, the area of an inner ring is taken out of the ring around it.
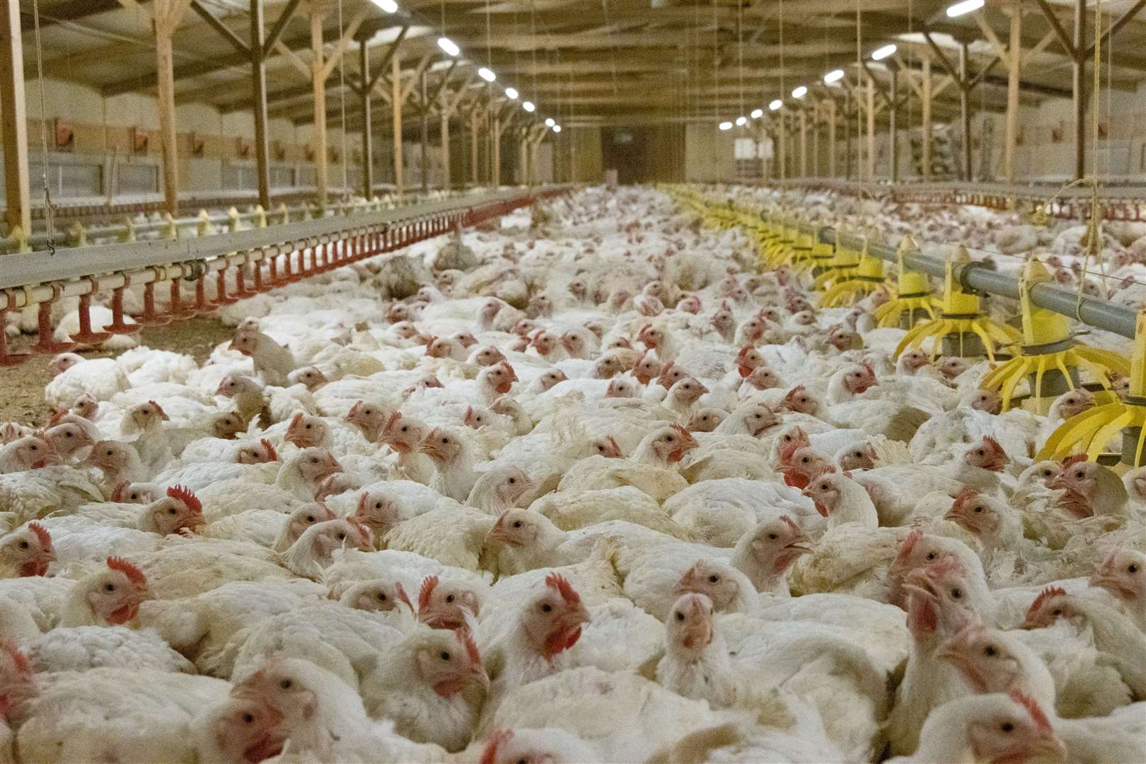
{"label": "wooden barn ceiling above the posts and strip lights", "polygon": [[[170,0],[156,0],[166,2]],[[984,18],[997,39],[1007,39],[1008,16],[1002,6],[1018,0],[988,0]],[[1031,53],[1022,70],[1022,99],[1069,97],[1070,57],[1054,39],[1052,24],[1041,13],[1041,0],[1023,0],[1023,49]],[[249,40],[250,0],[198,0],[203,10]],[[296,10],[282,31],[281,45],[267,61],[268,108],[272,117],[296,123],[313,119],[311,89],[312,7],[325,11],[327,56],[345,38],[348,55],[327,82],[331,116],[342,113],[347,127],[359,125],[358,45],[366,39],[377,68],[402,26],[409,26],[398,53],[403,79],[426,71],[429,94],[440,86],[461,100],[501,97],[505,86],[537,104],[537,116],[562,124],[631,124],[638,121],[731,119],[772,99],[787,97],[807,85],[811,96],[842,97],[821,78],[845,69],[854,79],[880,45],[895,41],[889,63],[905,78],[918,77],[928,46],[918,34],[926,24],[953,61],[959,40],[970,44],[972,76],[989,68],[973,95],[976,109],[1003,110],[1006,70],[972,16],[949,19],[951,0],[399,0],[401,10],[383,13],[370,0],[264,0],[267,25],[284,9]],[[1073,0],[1046,0],[1060,25],[1073,29]],[[1093,6],[1093,0],[1091,0]],[[46,76],[88,85],[104,95],[154,92],[155,45],[148,0],[40,0],[40,32]],[[1146,0],[1104,0],[1102,27]],[[25,72],[34,77],[36,58],[31,3],[25,14]],[[1093,29],[1094,13],[1088,13]],[[437,46],[445,34],[462,48],[463,62],[453,62]],[[350,34],[347,34],[350,33]],[[1089,33],[1089,34],[1092,34]],[[1146,9],[1120,26],[1109,48],[1104,78],[1110,87],[1132,89],[1146,79]],[[176,101],[202,102],[223,111],[248,108],[250,63],[223,39],[202,13],[189,13],[174,37]],[[1106,56],[1104,56],[1104,60]],[[472,77],[487,65],[497,81],[486,86]],[[886,84],[890,69],[870,65]],[[933,73],[943,74],[939,62]],[[385,85],[385,80],[382,80]],[[421,85],[421,84],[419,84]],[[419,87],[411,88],[417,104]],[[375,93],[379,107],[388,102],[388,86]],[[810,102],[809,99],[807,102]],[[906,116],[919,104],[908,100]],[[958,88],[936,99],[937,119],[958,110]],[[384,108],[375,119],[386,121]]]}

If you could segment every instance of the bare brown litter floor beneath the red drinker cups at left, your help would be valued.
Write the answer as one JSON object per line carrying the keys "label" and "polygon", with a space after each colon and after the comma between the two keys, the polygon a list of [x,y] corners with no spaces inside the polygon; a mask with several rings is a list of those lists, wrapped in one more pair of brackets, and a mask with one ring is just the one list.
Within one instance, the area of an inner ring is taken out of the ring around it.
{"label": "bare brown litter floor beneath the red drinker cups at left", "polygon": [[[158,347],[173,353],[186,353],[203,363],[212,348],[230,338],[234,329],[213,316],[176,321],[165,326],[146,326],[140,332],[140,344]],[[9,342],[13,349],[21,349],[19,340]],[[80,355],[101,359],[116,355],[102,351],[84,351]],[[48,370],[50,355],[37,355],[13,369],[0,369],[0,422],[19,422],[40,427],[48,422],[50,412],[44,402],[44,387],[52,380]]]}

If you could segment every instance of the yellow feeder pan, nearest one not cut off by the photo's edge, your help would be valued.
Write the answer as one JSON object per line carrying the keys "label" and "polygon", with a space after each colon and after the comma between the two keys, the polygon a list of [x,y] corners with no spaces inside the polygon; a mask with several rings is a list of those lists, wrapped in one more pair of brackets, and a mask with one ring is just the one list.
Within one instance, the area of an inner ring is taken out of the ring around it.
{"label": "yellow feeder pan, nearest one not cut off by the photo's edge", "polygon": [[1019,306],[1022,310],[1022,339],[1019,354],[1003,365],[990,371],[980,387],[998,392],[1003,399],[1003,410],[1011,408],[1014,391],[1023,379],[1034,375],[1030,383],[1031,397],[1036,409],[1045,413],[1054,395],[1044,395],[1043,377],[1051,372],[1062,376],[1063,384],[1075,388],[1072,371],[1085,370],[1090,380],[1109,389],[1107,370],[1130,373],[1130,364],[1117,353],[1086,347],[1076,342],[1070,333],[1070,320],[1063,315],[1036,307],[1030,302],[1030,288],[1050,279],[1051,275],[1042,262],[1031,258],[1019,279]]}

